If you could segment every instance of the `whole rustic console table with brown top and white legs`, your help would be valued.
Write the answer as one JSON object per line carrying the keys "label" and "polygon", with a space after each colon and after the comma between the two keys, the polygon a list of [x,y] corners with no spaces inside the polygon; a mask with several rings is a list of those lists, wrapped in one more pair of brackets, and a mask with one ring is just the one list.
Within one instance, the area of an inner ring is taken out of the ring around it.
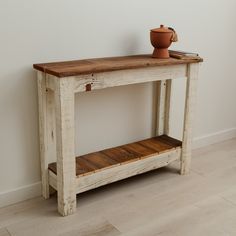
{"label": "whole rustic console table with brown top and white legs", "polygon": [[[44,198],[49,198],[49,186],[57,190],[58,211],[66,216],[75,212],[78,193],[175,160],[180,160],[180,173],[188,173],[199,62],[202,59],[154,59],[151,55],[136,55],[34,64],[38,78]],[[187,78],[181,141],[169,136],[171,81],[180,77]],[[156,136],[75,157],[75,93],[151,81],[157,81],[158,85]]]}

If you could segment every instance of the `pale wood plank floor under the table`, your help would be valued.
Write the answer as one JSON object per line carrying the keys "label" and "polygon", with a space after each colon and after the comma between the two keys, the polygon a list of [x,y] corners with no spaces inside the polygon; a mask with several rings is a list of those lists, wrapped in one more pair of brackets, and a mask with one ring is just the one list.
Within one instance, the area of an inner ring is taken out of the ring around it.
{"label": "pale wood plank floor under the table", "polygon": [[77,212],[57,213],[56,197],[0,209],[0,236],[235,236],[236,139],[178,163],[78,195]]}

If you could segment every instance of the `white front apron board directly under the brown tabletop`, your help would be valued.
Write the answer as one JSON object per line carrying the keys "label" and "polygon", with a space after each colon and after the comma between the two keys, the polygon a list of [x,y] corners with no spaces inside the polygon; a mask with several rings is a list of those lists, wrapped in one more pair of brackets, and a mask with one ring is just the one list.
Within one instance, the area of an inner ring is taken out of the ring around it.
{"label": "white front apron board directly under the brown tabletop", "polygon": [[[74,91],[85,92],[87,85],[91,90],[104,89],[122,85],[147,83],[152,81],[178,79],[187,76],[186,65],[159,66],[139,69],[129,69],[97,74],[70,77],[74,80]],[[56,81],[56,77],[52,76]]]}

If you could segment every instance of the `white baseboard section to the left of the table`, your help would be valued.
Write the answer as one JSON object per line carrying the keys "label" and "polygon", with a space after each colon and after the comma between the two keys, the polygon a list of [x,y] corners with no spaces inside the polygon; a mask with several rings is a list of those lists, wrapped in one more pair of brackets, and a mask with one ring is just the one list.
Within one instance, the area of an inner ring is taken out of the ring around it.
{"label": "white baseboard section to the left of the table", "polygon": [[41,195],[41,182],[26,185],[6,192],[0,192],[0,207],[22,202]]}

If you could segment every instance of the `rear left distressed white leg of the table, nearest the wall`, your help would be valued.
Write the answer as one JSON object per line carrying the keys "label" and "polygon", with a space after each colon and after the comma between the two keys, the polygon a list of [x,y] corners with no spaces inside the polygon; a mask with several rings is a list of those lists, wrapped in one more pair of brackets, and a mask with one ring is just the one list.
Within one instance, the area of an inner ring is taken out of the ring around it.
{"label": "rear left distressed white leg of the table, nearest the wall", "polygon": [[39,141],[42,195],[49,198],[48,164],[56,159],[54,93],[46,89],[46,75],[38,72]]}

